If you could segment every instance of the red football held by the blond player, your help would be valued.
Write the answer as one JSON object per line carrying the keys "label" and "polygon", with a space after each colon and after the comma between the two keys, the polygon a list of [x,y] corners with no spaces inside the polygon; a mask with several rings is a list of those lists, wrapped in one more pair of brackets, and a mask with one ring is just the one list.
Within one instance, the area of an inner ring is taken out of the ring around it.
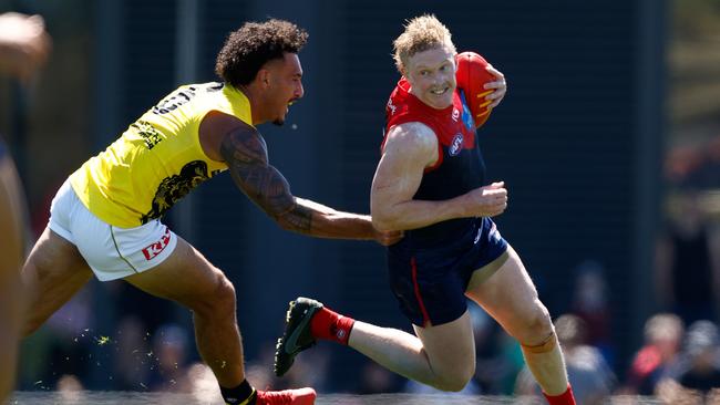
{"label": "red football held by the blond player", "polygon": [[455,61],[457,87],[464,91],[465,101],[475,121],[475,128],[480,128],[492,112],[492,108],[487,107],[492,101],[485,100],[485,96],[494,91],[494,89],[485,89],[484,85],[496,81],[497,77],[485,69],[488,65],[487,61],[475,52],[462,52],[455,56]]}

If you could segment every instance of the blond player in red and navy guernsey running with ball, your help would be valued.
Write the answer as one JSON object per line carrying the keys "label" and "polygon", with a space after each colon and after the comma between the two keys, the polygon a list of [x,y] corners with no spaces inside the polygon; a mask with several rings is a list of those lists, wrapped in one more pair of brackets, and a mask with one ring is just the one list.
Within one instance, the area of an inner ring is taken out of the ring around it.
{"label": "blond player in red and navy guernsey running with ball", "polygon": [[548,402],[575,404],[547,309],[491,219],[507,207],[507,190],[502,181],[486,185],[470,111],[495,107],[505,95],[505,79],[488,66],[495,80],[484,89],[491,92],[474,100],[477,84],[456,84],[455,53],[450,31],[434,15],[409,21],[394,41],[402,79],[387,105],[382,158],[371,190],[374,226],[404,231],[388,249],[388,266],[392,291],[415,335],[299,298],[290,303],[278,341],[276,374],[325,339],[408,378],[462,391],[475,372],[470,298],[521,343]]}

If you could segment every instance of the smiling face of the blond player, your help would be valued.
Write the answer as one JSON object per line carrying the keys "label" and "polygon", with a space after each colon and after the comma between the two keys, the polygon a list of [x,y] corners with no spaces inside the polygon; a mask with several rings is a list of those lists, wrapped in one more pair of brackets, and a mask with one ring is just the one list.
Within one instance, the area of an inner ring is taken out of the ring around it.
{"label": "smiling face of the blond player", "polygon": [[443,48],[418,52],[408,59],[405,77],[410,92],[433,108],[452,105],[455,92],[455,58]]}

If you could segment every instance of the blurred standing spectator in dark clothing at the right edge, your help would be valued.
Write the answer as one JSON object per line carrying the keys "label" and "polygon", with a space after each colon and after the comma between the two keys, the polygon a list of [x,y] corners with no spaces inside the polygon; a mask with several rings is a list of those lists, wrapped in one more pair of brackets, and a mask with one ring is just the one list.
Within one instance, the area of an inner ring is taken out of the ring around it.
{"label": "blurred standing spectator in dark clothing at the right edge", "polygon": [[717,321],[720,262],[699,194],[670,199],[669,220],[657,247],[657,294],[667,311],[686,324]]}

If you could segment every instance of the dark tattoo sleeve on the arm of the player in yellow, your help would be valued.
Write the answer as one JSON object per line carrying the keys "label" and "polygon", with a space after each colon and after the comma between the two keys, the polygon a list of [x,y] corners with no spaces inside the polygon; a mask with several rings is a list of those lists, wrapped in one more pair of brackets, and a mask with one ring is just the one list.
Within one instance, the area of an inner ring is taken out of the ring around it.
{"label": "dark tattoo sleeve on the arm of the player in yellow", "polygon": [[299,232],[310,232],[312,210],[299,206],[282,174],[268,164],[267,146],[251,127],[230,132],[220,153],[239,188],[274,219]]}

